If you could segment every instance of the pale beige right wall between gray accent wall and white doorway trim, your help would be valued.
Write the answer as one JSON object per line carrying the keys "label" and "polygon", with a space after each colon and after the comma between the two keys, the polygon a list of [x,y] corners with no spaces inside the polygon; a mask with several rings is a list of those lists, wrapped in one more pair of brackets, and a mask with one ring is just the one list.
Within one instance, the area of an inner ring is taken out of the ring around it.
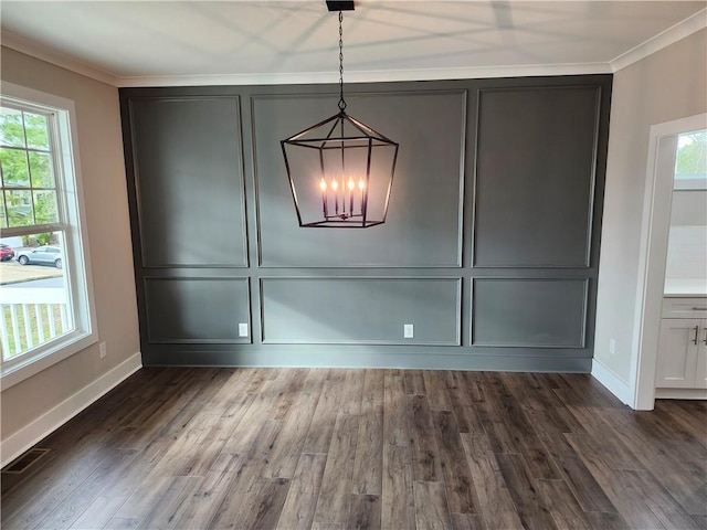
{"label": "pale beige right wall between gray accent wall and white doorway trim", "polygon": [[[707,30],[614,74],[594,360],[629,383],[651,125],[707,110]],[[615,340],[615,353],[609,351]]]}

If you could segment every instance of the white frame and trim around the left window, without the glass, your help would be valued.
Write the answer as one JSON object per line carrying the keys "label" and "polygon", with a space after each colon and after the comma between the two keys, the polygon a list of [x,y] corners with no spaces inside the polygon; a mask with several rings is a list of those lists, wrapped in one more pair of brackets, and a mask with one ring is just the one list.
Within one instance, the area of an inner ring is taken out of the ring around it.
{"label": "white frame and trim around the left window, without the glass", "polygon": [[[53,146],[59,166],[56,179],[59,211],[63,212],[65,265],[63,268],[74,329],[45,342],[17,361],[0,364],[0,389],[6,390],[98,342],[88,230],[83,200],[78,132],[74,102],[53,94],[0,82],[0,104],[51,109],[59,145]],[[60,213],[62,215],[62,213]]]}

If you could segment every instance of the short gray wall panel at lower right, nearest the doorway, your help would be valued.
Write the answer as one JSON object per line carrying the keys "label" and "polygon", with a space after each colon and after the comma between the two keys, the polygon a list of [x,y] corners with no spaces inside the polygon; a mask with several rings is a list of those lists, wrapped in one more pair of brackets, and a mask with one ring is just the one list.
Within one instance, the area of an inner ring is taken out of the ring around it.
{"label": "short gray wall panel at lower right, nearest the doorway", "polygon": [[[492,293],[493,284],[496,293]],[[486,348],[584,348],[588,307],[589,278],[474,278],[471,343]]]}

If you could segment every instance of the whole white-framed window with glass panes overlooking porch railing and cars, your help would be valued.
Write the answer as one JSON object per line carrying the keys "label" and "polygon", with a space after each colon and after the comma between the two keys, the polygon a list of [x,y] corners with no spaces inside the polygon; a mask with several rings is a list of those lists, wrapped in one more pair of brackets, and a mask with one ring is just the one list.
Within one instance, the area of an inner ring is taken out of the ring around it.
{"label": "whole white-framed window with glass panes overlooking porch railing and cars", "polygon": [[97,341],[73,102],[2,83],[2,388]]}

